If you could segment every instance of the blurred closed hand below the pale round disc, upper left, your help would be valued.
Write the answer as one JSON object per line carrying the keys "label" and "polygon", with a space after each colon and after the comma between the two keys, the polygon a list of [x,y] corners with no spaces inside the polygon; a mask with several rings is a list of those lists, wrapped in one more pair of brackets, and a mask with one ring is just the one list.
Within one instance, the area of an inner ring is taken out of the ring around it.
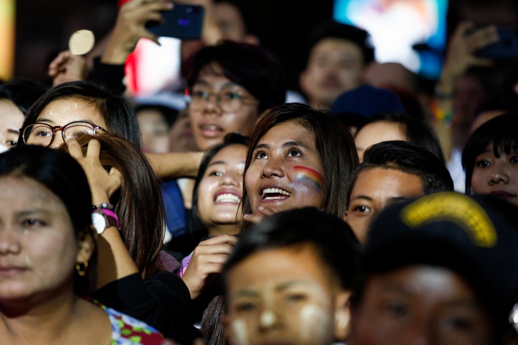
{"label": "blurred closed hand below the pale round disc, upper left", "polygon": [[49,77],[53,79],[52,86],[67,81],[83,80],[87,75],[84,57],[64,50],[49,64]]}

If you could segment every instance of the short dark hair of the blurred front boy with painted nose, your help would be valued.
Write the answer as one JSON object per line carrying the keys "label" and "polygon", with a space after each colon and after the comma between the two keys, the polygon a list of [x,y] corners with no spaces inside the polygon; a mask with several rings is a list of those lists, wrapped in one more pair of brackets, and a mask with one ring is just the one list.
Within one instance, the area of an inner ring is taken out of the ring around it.
{"label": "short dark hair of the blurred front boy with painted nose", "polygon": [[343,289],[353,289],[358,274],[361,246],[341,218],[314,207],[270,215],[241,233],[228,256],[222,275],[250,255],[264,250],[310,245],[317,257],[338,278]]}

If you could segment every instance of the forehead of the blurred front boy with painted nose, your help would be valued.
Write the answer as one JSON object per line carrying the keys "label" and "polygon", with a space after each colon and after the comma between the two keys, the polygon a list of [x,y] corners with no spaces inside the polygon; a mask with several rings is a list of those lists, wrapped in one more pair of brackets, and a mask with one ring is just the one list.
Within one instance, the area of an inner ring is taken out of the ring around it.
{"label": "forehead of the blurred front boy with painted nose", "polygon": [[232,294],[243,289],[298,285],[327,291],[335,280],[322,266],[320,255],[309,245],[258,251],[231,268],[228,290]]}

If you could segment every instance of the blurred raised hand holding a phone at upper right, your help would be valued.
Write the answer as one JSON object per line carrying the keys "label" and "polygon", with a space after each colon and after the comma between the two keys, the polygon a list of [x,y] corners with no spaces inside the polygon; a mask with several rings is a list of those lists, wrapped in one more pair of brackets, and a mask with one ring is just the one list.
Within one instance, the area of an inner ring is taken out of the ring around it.
{"label": "blurred raised hand holding a phone at upper right", "polygon": [[473,23],[461,22],[453,32],[440,78],[440,86],[445,93],[453,92],[455,78],[463,74],[470,66],[491,66],[493,63],[491,59],[477,57],[475,52],[498,41],[496,27],[490,25],[473,29]]}

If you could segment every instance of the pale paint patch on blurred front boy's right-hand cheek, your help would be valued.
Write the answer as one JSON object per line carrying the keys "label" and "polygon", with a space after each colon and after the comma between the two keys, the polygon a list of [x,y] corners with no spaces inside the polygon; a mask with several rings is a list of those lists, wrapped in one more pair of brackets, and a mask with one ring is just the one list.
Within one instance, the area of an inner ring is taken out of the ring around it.
{"label": "pale paint patch on blurred front boy's right-hand cheek", "polygon": [[333,338],[332,334],[328,334],[331,317],[322,307],[314,304],[308,304],[300,309],[299,325],[300,340],[311,343],[315,339]]}

